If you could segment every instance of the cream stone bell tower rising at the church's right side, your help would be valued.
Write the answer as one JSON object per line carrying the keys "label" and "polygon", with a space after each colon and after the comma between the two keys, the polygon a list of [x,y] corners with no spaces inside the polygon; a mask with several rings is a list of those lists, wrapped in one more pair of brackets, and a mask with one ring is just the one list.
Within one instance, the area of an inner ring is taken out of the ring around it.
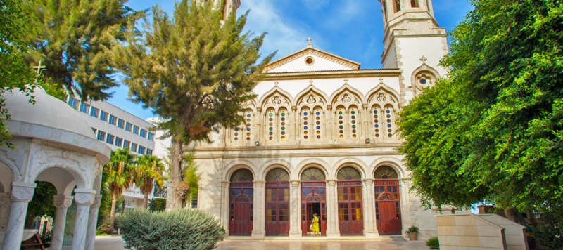
{"label": "cream stone bell tower rising at the church's right side", "polygon": [[401,103],[444,77],[439,62],[448,53],[445,29],[438,27],[432,0],[379,0],[384,23],[384,68],[403,70]]}

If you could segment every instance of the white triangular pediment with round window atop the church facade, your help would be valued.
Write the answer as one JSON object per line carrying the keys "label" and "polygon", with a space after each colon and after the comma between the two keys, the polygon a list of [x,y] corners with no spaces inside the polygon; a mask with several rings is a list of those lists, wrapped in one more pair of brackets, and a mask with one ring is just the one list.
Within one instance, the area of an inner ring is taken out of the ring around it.
{"label": "white triangular pediment with round window atop the church facade", "polygon": [[317,48],[305,48],[271,62],[264,69],[268,73],[311,72],[326,70],[359,70],[360,63],[341,58]]}

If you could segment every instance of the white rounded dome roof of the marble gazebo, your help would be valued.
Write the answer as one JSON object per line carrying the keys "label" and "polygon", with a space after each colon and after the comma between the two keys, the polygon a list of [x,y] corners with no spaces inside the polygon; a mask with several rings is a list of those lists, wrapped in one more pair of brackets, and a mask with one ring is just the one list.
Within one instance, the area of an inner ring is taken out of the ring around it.
{"label": "white rounded dome roof of the marble gazebo", "polygon": [[49,96],[42,88],[35,88],[32,96],[35,104],[29,102],[30,97],[20,91],[13,94],[4,93],[6,107],[12,121],[23,121],[50,128],[63,129],[89,138],[96,138],[94,131],[76,110],[62,100]]}

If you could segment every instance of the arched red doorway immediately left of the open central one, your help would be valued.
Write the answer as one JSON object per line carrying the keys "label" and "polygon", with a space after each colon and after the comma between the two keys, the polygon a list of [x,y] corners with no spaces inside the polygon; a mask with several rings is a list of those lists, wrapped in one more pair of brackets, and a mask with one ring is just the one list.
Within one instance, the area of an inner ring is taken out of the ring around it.
{"label": "arched red doorway immediately left of the open central one", "polygon": [[266,235],[289,235],[289,173],[284,169],[266,176]]}

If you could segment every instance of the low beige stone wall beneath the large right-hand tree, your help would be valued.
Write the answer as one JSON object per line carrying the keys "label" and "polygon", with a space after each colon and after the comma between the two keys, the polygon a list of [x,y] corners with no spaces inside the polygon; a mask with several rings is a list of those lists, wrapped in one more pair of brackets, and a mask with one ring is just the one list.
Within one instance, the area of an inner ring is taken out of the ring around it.
{"label": "low beige stone wall beneath the large right-hand tree", "polygon": [[496,214],[437,216],[440,249],[528,250],[524,226]]}

